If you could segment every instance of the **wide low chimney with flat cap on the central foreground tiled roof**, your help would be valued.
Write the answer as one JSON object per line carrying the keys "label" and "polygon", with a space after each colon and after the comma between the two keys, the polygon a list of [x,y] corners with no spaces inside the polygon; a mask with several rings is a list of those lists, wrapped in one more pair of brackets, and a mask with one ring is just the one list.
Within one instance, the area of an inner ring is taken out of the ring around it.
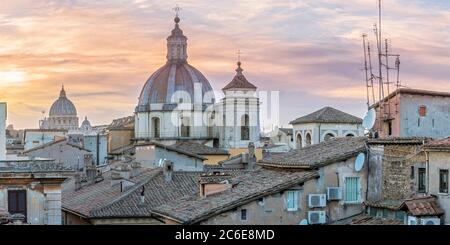
{"label": "wide low chimney with flat cap on the central foreground tiled roof", "polygon": [[200,175],[200,196],[206,197],[232,188],[232,176],[220,172]]}

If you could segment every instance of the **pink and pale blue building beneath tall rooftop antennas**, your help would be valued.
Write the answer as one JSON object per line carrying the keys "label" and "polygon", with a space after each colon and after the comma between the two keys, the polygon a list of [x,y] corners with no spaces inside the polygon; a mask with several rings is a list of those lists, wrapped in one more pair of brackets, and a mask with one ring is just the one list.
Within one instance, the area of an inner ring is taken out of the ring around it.
{"label": "pink and pale blue building beneath tall rooftop antennas", "polygon": [[371,108],[376,110],[373,131],[380,137],[450,135],[450,93],[401,88]]}

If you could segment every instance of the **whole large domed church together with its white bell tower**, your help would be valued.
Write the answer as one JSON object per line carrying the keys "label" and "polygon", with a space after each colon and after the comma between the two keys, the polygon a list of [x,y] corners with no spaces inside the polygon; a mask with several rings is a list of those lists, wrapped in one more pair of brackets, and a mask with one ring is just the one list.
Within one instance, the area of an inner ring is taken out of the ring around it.
{"label": "whole large domed church together with its white bell tower", "polygon": [[241,62],[217,103],[209,81],[188,63],[187,37],[180,29],[180,18],[174,21],[167,38],[167,61],[150,76],[139,96],[135,141],[172,145],[190,140],[221,148],[258,145],[257,88],[243,75]]}

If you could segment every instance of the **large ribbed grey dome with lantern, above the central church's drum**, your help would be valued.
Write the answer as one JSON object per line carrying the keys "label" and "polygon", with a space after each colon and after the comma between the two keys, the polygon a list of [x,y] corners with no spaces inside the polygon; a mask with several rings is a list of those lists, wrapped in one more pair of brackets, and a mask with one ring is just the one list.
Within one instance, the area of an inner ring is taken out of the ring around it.
{"label": "large ribbed grey dome with lantern, above the central church's drum", "polygon": [[[187,62],[187,38],[175,18],[175,28],[167,38],[167,63],[156,70],[145,83],[136,111],[148,111],[151,104],[194,102],[194,90],[201,89],[203,102],[214,103],[213,89],[205,76]],[[199,87],[198,85],[201,87]],[[197,95],[196,95],[197,96]]]}

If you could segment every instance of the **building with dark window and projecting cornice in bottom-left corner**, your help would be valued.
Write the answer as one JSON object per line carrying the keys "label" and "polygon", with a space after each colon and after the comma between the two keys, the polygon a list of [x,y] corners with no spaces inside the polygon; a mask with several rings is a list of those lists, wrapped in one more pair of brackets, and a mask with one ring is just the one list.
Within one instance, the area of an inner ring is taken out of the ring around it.
{"label": "building with dark window and projecting cornice in bottom-left corner", "polygon": [[53,161],[0,161],[0,208],[23,223],[61,224],[61,184],[67,170]]}

